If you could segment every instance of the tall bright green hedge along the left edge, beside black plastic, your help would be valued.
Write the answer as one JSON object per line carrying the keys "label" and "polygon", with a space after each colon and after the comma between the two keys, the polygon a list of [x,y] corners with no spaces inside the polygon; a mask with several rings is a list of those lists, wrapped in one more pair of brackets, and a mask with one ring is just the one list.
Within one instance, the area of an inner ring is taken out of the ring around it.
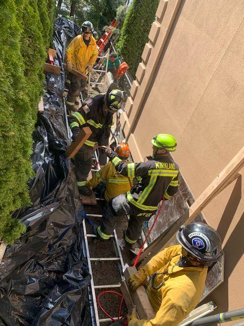
{"label": "tall bright green hedge along the left edge, beside black plastic", "polygon": [[0,4],[0,239],[8,243],[25,231],[11,213],[31,205],[27,182],[34,176],[32,132],[54,6],[54,0]]}

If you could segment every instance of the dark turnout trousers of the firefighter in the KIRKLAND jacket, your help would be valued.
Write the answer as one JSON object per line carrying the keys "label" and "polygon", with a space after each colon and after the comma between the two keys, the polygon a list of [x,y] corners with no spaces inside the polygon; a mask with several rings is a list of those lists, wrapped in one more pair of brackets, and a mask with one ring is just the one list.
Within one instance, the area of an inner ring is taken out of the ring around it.
{"label": "dark turnout trousers of the firefighter in the KIRKLAND jacket", "polygon": [[127,200],[126,194],[118,195],[106,203],[98,233],[104,240],[109,239],[116,227],[119,216],[130,214],[128,228],[125,232],[125,240],[128,243],[135,243],[141,235],[144,222],[150,220],[154,213],[155,211],[144,211],[132,205]]}

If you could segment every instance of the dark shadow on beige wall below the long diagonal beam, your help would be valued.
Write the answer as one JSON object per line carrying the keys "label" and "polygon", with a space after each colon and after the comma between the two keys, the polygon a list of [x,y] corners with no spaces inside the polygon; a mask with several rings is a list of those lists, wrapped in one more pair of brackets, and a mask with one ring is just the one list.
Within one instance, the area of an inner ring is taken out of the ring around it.
{"label": "dark shadow on beige wall below the long diagonal beam", "polygon": [[[238,177],[230,199],[226,205],[222,215],[217,231],[220,233],[222,239],[225,238],[231,221],[234,218],[235,212],[241,199],[241,175]],[[216,291],[210,294],[205,302],[214,300],[218,307],[215,313],[224,312],[229,310],[229,277],[235,268],[236,264],[243,255],[243,230],[244,230],[244,213],[241,215],[239,222],[235,226],[228,241],[226,242],[223,251],[225,253],[225,273],[224,283],[221,284]],[[239,307],[240,308],[240,307]],[[237,309],[237,308],[236,308]]]}

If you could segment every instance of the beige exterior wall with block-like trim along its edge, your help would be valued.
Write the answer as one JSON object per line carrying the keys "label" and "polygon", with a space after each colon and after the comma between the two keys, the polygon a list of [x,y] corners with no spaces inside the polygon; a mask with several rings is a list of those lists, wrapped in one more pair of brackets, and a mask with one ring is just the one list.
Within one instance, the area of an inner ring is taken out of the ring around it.
{"label": "beige exterior wall with block-like trim along its edge", "polygon": [[[161,0],[121,125],[134,161],[150,139],[173,134],[173,153],[197,198],[242,148],[244,0]],[[207,298],[218,311],[244,306],[241,177],[204,209],[223,239],[225,281]]]}

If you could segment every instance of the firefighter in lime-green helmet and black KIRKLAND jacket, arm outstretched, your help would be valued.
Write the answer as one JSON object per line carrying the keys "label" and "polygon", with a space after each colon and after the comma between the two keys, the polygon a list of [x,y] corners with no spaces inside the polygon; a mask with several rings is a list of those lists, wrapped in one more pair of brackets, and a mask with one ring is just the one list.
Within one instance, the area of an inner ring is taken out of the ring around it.
{"label": "firefighter in lime-green helmet and black KIRKLAND jacket, arm outstretched", "polygon": [[125,241],[133,245],[141,235],[142,226],[155,214],[159,202],[164,197],[170,199],[178,188],[178,166],[170,156],[176,150],[175,138],[167,133],[160,133],[151,140],[153,155],[146,162],[126,164],[111,148],[106,154],[116,171],[130,178],[140,177],[131,189],[123,195],[110,199],[105,205],[100,226],[95,226],[94,233],[103,240],[110,238],[116,226],[116,216],[130,214]]}

